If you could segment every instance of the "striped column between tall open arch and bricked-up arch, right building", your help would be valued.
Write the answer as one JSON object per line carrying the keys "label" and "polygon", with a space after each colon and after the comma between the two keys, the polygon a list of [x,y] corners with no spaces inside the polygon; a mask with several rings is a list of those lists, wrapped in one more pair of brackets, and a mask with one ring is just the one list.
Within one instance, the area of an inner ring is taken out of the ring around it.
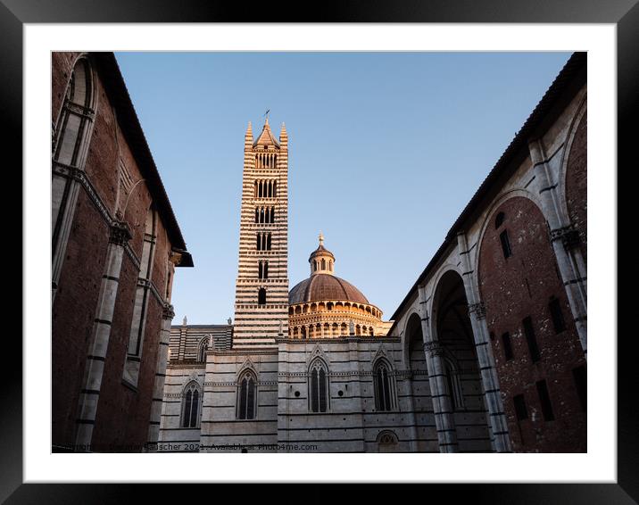
{"label": "striped column between tall open arch and bricked-up arch, right building", "polygon": [[490,334],[485,322],[485,307],[479,299],[478,290],[472,282],[474,270],[470,265],[466,234],[457,235],[463,271],[464,291],[469,303],[470,326],[473,330],[475,351],[484,388],[486,409],[488,410],[488,424],[491,428],[494,451],[511,452],[508,422],[503,412],[502,394],[499,388],[499,377],[495,368],[494,356],[490,344]]}

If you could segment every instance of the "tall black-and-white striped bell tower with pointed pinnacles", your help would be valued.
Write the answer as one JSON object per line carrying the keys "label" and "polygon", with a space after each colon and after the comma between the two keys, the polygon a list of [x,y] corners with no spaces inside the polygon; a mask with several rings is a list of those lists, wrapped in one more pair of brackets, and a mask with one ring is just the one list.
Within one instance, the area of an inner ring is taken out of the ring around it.
{"label": "tall black-and-white striped bell tower with pointed pinnacles", "polygon": [[288,335],[288,135],[279,140],[267,117],[244,145],[233,347],[274,346]]}

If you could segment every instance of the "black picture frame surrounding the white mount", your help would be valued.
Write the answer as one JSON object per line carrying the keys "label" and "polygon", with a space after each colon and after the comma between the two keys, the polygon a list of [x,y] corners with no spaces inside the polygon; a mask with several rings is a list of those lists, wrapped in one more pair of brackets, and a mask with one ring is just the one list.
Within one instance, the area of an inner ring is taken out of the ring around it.
{"label": "black picture frame surrounding the white mount", "polygon": [[[316,8],[310,4],[278,4],[277,9],[247,8],[245,4],[221,3],[212,0],[178,2],[168,0],[0,0],[0,110],[4,120],[4,149],[6,171],[15,175],[22,166],[22,32],[25,23],[59,22],[280,22],[286,12],[288,21],[328,22],[505,22],[505,23],[613,23],[617,26],[618,63],[618,167],[627,165],[636,170],[633,157],[635,118],[639,117],[639,4],[637,0],[564,0],[562,2],[530,2],[530,0],[411,0],[395,2],[355,3],[353,1],[323,2]],[[315,5],[315,4],[313,4]],[[311,19],[311,15],[314,16]],[[10,147],[11,146],[11,147]],[[591,170],[596,170],[592,168]],[[613,169],[614,170],[614,169]],[[5,172],[6,173],[6,172]],[[623,172],[618,170],[620,176]],[[21,186],[21,177],[18,185]],[[628,185],[626,185],[628,186]],[[6,186],[5,186],[6,187]],[[624,185],[620,185],[624,187]],[[621,201],[619,199],[619,201]],[[628,210],[629,214],[634,212]],[[619,218],[623,216],[618,212]],[[624,229],[624,228],[618,228]],[[21,234],[21,232],[19,232]],[[5,235],[8,238],[8,235]],[[21,241],[12,235],[12,256]],[[21,245],[19,245],[21,248]],[[629,253],[633,247],[621,250]],[[21,251],[22,253],[22,251]],[[21,256],[21,254],[20,254]],[[618,265],[634,264],[631,258]],[[29,265],[22,264],[28,269]],[[629,276],[628,276],[629,277]],[[628,282],[628,280],[626,281]],[[610,294],[617,297],[617,294]],[[18,296],[15,296],[18,298]],[[21,297],[20,297],[21,298]],[[618,297],[624,308],[632,296]],[[29,302],[29,301],[27,301]],[[9,315],[12,319],[15,316]],[[618,336],[619,335],[619,336]],[[594,335],[594,338],[617,337],[618,344],[618,480],[617,484],[426,484],[422,497],[411,500],[433,501],[444,497],[449,503],[636,503],[639,501],[639,408],[635,385],[639,384],[638,353],[634,332],[624,335]],[[4,335],[4,380],[0,409],[0,500],[7,503],[111,503],[130,502],[132,494],[140,490],[137,484],[22,484],[22,346],[15,335]],[[7,358],[10,357],[10,358]],[[11,361],[11,363],[7,363]],[[596,372],[595,372],[596,373]],[[43,418],[43,424],[46,418]],[[425,468],[427,472],[427,468]],[[69,476],[72,480],[73,476]],[[286,480],[286,475],[282,476]],[[185,499],[184,486],[144,486],[144,500],[166,501],[172,495]],[[333,486],[312,484],[314,489],[295,491],[287,488],[279,494],[278,502],[300,501],[319,503],[344,499]],[[242,502],[267,495],[262,486],[245,486]],[[397,500],[391,486],[361,486],[358,501],[377,499]],[[151,488],[151,489],[149,489]],[[220,484],[210,495],[222,499]],[[209,493],[209,492],[207,492]],[[385,493],[389,493],[385,496]],[[276,493],[273,493],[276,496]],[[408,497],[408,495],[405,495]]]}

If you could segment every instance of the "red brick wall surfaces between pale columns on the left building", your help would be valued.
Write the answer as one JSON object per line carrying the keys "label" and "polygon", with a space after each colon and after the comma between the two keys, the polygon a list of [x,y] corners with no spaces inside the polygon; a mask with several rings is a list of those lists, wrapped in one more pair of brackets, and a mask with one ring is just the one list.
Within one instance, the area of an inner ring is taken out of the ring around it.
{"label": "red brick wall surfaces between pale columns on the left building", "polygon": [[[78,54],[52,55],[52,118],[56,120],[71,66]],[[143,178],[142,171],[129,149],[127,138],[118,128],[116,114],[104,87],[95,83],[97,107],[95,126],[84,170],[95,187],[98,198],[115,215],[120,158],[132,180]],[[120,150],[120,156],[118,155]],[[120,195],[120,206],[126,195]],[[146,213],[153,196],[144,183],[133,190],[125,213],[133,237],[129,241],[137,258],[142,256]],[[157,219],[154,269],[151,280],[161,298],[165,295],[166,266],[171,244],[162,219]],[[79,392],[93,335],[96,305],[100,293],[104,262],[109,245],[109,227],[96,210],[84,188],[79,190],[71,235],[62,266],[52,321],[53,344],[53,443],[72,444],[78,416]],[[104,376],[95,418],[93,443],[108,451],[123,451],[122,446],[146,443],[153,397],[154,374],[162,327],[162,304],[149,290],[144,345],[137,390],[122,384],[122,372],[129,344],[138,269],[125,253],[120,271],[118,295],[112,318],[111,336],[104,361]]]}

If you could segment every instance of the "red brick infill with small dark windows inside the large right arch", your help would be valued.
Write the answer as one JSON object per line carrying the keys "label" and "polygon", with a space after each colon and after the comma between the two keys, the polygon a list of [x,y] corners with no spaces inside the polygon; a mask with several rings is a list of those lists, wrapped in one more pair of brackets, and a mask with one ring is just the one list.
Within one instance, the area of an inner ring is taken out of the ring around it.
{"label": "red brick infill with small dark windows inside the large right arch", "polygon": [[[495,216],[504,213],[501,227]],[[508,230],[512,255],[504,259],[500,234]],[[568,299],[560,281],[542,212],[525,197],[510,198],[494,211],[479,253],[479,288],[485,302],[494,358],[514,451],[585,451],[585,411],[572,369],[585,365]],[[549,310],[560,304],[566,329],[556,333]],[[530,317],[540,359],[533,362],[522,321]],[[513,357],[506,360],[502,334],[509,332]],[[554,420],[544,420],[535,383],[545,380]],[[527,418],[518,420],[513,398],[523,394]]]}

